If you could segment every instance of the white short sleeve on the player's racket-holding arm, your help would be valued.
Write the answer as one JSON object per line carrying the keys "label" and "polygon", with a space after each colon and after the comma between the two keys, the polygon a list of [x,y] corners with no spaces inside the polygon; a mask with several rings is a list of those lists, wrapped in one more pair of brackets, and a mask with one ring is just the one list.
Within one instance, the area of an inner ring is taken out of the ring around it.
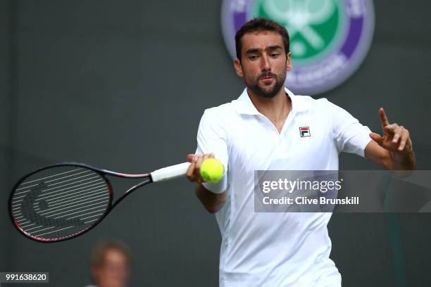
{"label": "white short sleeve on the player's racket-holding arm", "polygon": [[223,115],[215,108],[205,110],[201,117],[197,133],[196,154],[214,153],[214,157],[223,163],[225,172],[217,183],[205,182],[204,187],[213,193],[222,193],[227,188],[227,132]]}

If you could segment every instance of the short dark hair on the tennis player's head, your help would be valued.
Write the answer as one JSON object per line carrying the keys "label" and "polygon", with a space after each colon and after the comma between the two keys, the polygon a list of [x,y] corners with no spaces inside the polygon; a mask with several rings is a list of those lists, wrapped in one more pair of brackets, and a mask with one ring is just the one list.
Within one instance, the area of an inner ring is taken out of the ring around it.
{"label": "short dark hair on the tennis player's head", "polygon": [[242,25],[235,34],[235,47],[237,49],[237,58],[241,61],[242,36],[246,33],[258,31],[274,31],[281,35],[283,44],[285,45],[286,55],[289,53],[289,33],[286,28],[273,20],[266,18],[254,18]]}

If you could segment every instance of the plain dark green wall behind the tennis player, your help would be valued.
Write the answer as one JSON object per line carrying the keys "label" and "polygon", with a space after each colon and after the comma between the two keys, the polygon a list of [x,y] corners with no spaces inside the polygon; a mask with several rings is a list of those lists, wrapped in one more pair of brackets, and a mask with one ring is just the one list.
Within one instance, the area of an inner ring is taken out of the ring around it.
{"label": "plain dark green wall behind the tennis player", "polygon": [[[0,271],[49,271],[51,286],[84,286],[90,250],[111,236],[134,253],[131,286],[217,286],[220,233],[186,179],[136,191],[94,231],[52,245],[20,236],[6,200],[20,175],[52,162],[138,173],[184,161],[203,110],[243,89],[220,3],[0,0]],[[375,1],[366,60],[320,95],[377,132],[385,107],[410,129],[423,170],[431,167],[430,10],[425,0]],[[341,166],[378,168],[353,155]],[[333,215],[344,286],[430,286],[430,219]]]}

